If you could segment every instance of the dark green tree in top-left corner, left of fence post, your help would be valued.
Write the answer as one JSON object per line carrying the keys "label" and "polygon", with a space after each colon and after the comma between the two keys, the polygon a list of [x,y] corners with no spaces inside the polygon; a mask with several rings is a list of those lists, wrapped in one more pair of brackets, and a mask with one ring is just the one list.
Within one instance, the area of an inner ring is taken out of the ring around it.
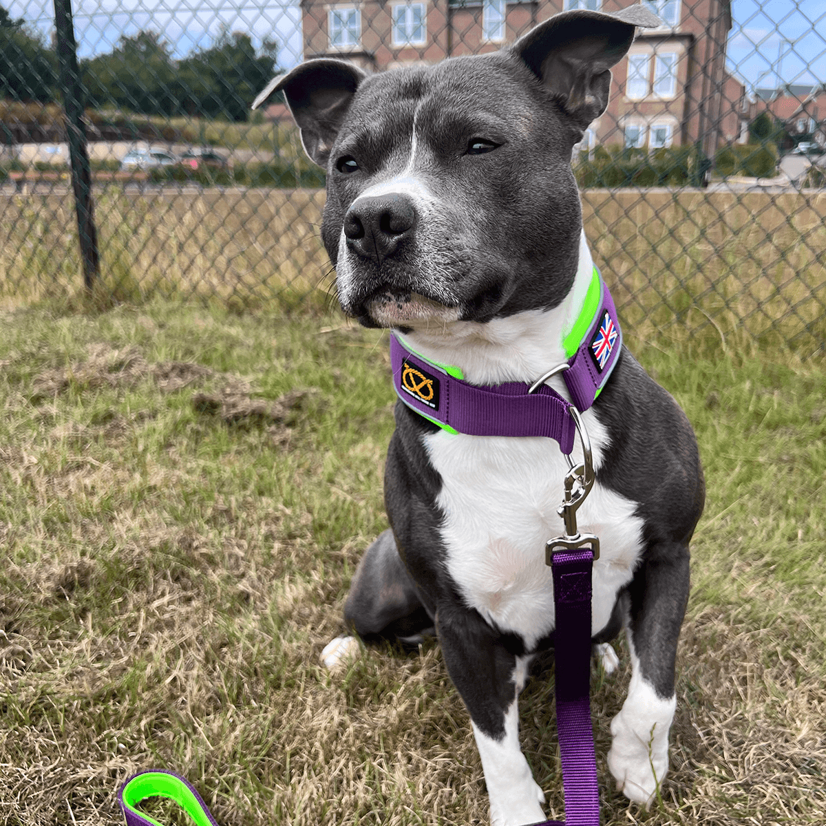
{"label": "dark green tree in top-left corner, left of fence post", "polygon": [[13,20],[0,6],[0,97],[19,101],[50,101],[55,96],[57,57],[40,36]]}

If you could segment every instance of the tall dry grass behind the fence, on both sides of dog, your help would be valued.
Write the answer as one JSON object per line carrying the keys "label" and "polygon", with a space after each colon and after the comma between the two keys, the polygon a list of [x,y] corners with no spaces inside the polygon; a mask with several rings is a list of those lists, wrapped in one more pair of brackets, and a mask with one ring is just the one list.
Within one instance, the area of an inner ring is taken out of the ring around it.
{"label": "tall dry grass behind the fence, on both sides of dog", "polygon": [[[65,196],[0,197],[0,302],[65,301],[82,282]],[[587,190],[586,231],[639,335],[713,347],[826,340],[826,194]],[[323,192],[107,188],[97,222],[103,291],[230,306],[319,305],[331,273]],[[59,252],[58,252],[59,251]]]}

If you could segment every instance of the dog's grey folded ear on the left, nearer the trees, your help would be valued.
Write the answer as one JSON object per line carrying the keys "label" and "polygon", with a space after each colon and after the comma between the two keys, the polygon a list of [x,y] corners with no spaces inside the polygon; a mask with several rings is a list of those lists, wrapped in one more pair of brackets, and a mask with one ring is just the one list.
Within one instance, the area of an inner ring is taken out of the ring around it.
{"label": "dog's grey folded ear on the left, nearer the trees", "polygon": [[256,109],[270,95],[283,92],[301,130],[306,154],[319,166],[326,166],[350,101],[366,77],[358,66],[344,60],[307,60],[287,74],[273,78],[255,98],[252,107]]}

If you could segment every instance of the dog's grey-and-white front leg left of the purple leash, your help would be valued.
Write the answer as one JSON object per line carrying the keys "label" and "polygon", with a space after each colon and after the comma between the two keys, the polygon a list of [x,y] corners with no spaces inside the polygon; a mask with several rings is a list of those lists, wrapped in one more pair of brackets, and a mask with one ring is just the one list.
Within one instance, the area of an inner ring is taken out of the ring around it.
{"label": "dog's grey-and-white front leg left of the purple leash", "polygon": [[515,640],[497,634],[473,610],[439,607],[436,628],[450,678],[470,712],[491,824],[539,823],[545,819],[540,805],[545,795],[519,743],[518,698],[531,657],[512,653],[519,648]]}

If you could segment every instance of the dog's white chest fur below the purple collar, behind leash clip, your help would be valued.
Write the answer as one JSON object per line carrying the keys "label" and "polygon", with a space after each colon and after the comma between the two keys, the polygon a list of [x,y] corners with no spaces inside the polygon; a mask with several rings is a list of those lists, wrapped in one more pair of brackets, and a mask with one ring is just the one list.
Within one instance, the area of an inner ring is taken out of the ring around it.
{"label": "dog's white chest fur below the purple collar, behind leash clip", "polygon": [[[595,467],[607,434],[586,413]],[[553,439],[425,436],[430,461],[442,478],[437,504],[447,567],[468,607],[530,649],[554,627],[553,577],[545,543],[564,533],[557,508],[568,466]],[[642,550],[643,520],[636,503],[596,482],[577,511],[581,532],[596,534],[592,631],[605,627],[616,594],[634,572]]]}

